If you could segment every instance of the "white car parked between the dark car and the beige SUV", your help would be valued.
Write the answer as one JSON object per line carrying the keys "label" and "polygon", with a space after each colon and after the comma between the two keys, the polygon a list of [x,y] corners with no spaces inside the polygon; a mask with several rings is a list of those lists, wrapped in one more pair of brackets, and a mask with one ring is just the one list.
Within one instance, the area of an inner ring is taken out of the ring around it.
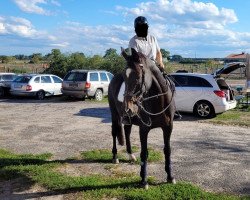
{"label": "white car parked between the dark car and the beige SUV", "polygon": [[12,83],[10,93],[15,96],[34,96],[43,100],[45,96],[61,95],[62,79],[52,74],[24,74]]}

